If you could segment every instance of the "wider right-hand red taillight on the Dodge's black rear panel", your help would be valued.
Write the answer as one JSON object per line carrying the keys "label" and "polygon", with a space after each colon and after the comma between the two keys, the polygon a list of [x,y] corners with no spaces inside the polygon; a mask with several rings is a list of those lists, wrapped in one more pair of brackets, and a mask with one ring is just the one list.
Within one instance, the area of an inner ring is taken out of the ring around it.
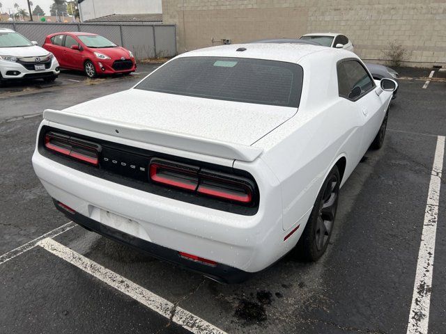
{"label": "wider right-hand red taillight on the Dodge's black rear panel", "polygon": [[151,160],[149,176],[153,182],[194,191],[203,196],[244,205],[254,201],[254,182],[246,177],[157,158]]}

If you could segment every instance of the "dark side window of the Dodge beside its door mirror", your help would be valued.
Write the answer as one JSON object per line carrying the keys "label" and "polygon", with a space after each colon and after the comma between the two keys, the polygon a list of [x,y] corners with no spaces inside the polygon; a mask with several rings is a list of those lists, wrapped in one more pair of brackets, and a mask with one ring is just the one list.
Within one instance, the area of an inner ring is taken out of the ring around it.
{"label": "dark side window of the Dodge beside its door mirror", "polygon": [[359,61],[348,60],[337,64],[339,96],[357,100],[375,87],[373,79]]}

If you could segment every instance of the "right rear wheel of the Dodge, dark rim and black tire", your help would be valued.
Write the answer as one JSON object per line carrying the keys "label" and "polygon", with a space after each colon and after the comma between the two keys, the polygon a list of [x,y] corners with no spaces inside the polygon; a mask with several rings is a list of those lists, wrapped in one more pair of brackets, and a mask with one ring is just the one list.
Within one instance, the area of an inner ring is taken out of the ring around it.
{"label": "right rear wheel of the Dodge, dark rim and black tire", "polygon": [[339,169],[334,166],[323,182],[305,230],[296,246],[296,255],[302,260],[314,262],[325,253],[333,232],[340,184]]}

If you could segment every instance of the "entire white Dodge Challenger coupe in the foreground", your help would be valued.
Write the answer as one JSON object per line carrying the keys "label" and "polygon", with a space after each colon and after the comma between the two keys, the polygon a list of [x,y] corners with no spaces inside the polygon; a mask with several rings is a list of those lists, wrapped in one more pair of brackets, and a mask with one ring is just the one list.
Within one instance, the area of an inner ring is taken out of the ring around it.
{"label": "entire white Dodge Challenger coupe in the foreground", "polygon": [[70,220],[240,282],[293,248],[323,255],[396,88],[342,49],[199,49],[130,90],[45,110],[33,167]]}

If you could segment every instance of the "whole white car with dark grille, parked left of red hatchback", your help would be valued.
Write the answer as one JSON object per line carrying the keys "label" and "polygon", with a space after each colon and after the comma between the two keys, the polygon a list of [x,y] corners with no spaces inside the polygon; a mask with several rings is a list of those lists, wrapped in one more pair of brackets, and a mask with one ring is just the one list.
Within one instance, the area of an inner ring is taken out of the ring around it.
{"label": "whole white car with dark grille, parked left of red hatchback", "polygon": [[59,63],[51,52],[20,33],[0,28],[0,85],[25,79],[51,82],[58,75]]}

